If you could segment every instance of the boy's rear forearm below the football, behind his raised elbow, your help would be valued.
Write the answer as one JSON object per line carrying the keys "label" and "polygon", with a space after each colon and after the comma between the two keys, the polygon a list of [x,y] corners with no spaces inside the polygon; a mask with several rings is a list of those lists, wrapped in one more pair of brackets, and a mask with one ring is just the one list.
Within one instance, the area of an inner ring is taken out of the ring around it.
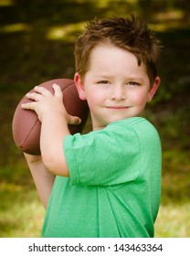
{"label": "boy's rear forearm below the football, behind his raised elbow", "polygon": [[54,184],[55,176],[47,170],[40,155],[28,155],[27,165],[37,187],[37,194],[45,208],[47,208],[48,198]]}

